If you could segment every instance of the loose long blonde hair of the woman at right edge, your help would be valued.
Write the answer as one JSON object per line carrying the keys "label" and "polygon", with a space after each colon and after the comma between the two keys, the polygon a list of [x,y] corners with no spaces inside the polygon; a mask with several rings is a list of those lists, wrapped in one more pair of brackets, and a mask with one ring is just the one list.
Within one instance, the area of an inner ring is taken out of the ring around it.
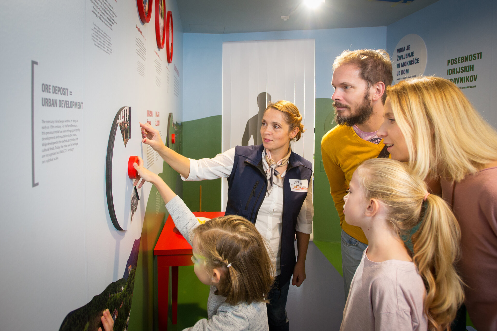
{"label": "loose long blonde hair of the woman at right edge", "polygon": [[450,80],[410,78],[387,95],[418,176],[459,182],[497,160],[497,132]]}

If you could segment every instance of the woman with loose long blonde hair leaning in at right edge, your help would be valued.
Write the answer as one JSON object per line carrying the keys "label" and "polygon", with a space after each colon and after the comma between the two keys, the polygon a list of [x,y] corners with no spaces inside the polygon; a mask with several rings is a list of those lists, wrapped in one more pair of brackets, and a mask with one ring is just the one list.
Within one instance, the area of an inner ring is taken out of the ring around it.
{"label": "woman with loose long blonde hair leaning in at right edge", "polygon": [[387,89],[384,138],[441,190],[461,227],[458,271],[478,331],[497,330],[497,132],[451,81],[426,76]]}

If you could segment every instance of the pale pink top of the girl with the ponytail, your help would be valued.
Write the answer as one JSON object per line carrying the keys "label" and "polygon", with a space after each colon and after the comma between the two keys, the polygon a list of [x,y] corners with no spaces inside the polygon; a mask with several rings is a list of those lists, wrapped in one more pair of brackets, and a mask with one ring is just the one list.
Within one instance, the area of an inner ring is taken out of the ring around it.
{"label": "pale pink top of the girl with the ponytail", "polygon": [[426,331],[424,283],[413,262],[373,262],[362,254],[340,331]]}

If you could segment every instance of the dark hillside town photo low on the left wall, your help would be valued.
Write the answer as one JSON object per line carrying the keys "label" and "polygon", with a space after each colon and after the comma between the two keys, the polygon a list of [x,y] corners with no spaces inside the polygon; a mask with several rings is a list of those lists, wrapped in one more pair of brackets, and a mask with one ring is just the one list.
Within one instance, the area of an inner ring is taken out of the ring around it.
{"label": "dark hillside town photo low on the left wall", "polygon": [[59,331],[98,331],[98,328],[104,330],[100,318],[107,308],[114,319],[114,330],[128,330],[139,248],[140,239],[137,239],[133,243],[123,277],[110,283],[102,293],[95,295],[83,307],[70,312],[62,321]]}

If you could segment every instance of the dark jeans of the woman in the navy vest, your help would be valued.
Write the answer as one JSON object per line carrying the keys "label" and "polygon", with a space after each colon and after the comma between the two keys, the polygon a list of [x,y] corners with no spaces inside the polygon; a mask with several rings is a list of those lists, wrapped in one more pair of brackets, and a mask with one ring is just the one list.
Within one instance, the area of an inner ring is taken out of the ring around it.
{"label": "dark jeans of the woman in the navy vest", "polygon": [[276,276],[273,287],[268,293],[269,304],[267,307],[267,323],[269,331],[288,331],[288,318],[286,316],[286,298],[290,287],[290,279],[280,286],[280,276]]}

